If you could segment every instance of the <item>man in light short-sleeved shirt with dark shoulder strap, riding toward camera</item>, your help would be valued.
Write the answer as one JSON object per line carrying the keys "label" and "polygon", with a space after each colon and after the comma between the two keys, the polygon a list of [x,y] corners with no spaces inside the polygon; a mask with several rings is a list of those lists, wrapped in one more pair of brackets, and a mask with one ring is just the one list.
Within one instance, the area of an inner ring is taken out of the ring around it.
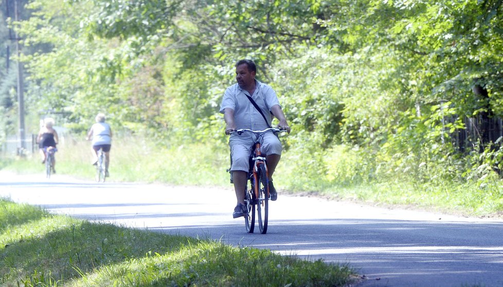
{"label": "man in light short-sleeved shirt with dark shoulder strap, riding toward camera", "polygon": [[[240,60],[236,63],[236,84],[228,87],[224,93],[220,113],[226,123],[225,133],[238,129],[264,130],[271,127],[272,116],[278,120],[278,128],[290,133],[281,106],[274,89],[255,79],[257,66],[252,60]],[[252,134],[240,136],[232,134],[229,138],[231,152],[230,172],[236,192],[237,205],[232,213],[233,218],[244,216],[248,211],[244,204],[249,170],[249,155],[255,143]],[[282,146],[279,138],[273,133],[264,134],[261,151],[266,154],[269,175],[271,200],[277,199],[272,176],[281,158]]]}

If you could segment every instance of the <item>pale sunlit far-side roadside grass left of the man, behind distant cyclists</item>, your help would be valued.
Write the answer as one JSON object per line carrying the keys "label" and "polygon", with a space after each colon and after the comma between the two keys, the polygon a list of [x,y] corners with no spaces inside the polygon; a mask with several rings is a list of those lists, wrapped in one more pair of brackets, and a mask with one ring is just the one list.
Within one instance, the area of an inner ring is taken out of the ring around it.
{"label": "pale sunlit far-side roadside grass left of the man, behind distant cyclists", "polygon": [[[228,185],[227,149],[214,150],[214,145],[199,144],[172,148],[154,146],[151,142],[131,137],[114,139],[110,152],[110,180],[126,182],[162,182],[188,185]],[[44,173],[40,155],[26,158],[2,158],[5,170],[21,174]],[[66,136],[58,146],[56,171],[81,179],[94,180],[93,151],[88,141]],[[0,166],[1,168],[1,166]]]}

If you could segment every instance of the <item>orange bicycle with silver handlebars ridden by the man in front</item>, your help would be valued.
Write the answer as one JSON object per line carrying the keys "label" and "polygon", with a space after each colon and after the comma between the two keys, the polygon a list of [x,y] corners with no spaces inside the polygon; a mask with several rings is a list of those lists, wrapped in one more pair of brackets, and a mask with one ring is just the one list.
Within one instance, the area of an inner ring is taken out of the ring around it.
{"label": "orange bicycle with silver handlebars ridden by the man in front", "polygon": [[245,205],[248,214],[245,214],[244,221],[246,231],[253,233],[255,230],[255,210],[258,215],[258,225],[261,234],[266,234],[267,223],[269,215],[269,180],[266,165],[265,155],[260,152],[260,138],[267,132],[286,132],[285,130],[277,128],[268,128],[263,131],[253,131],[250,129],[239,129],[230,134],[241,135],[243,132],[253,133],[257,139],[253,145],[252,153],[250,154],[250,168],[248,171],[248,180],[250,182],[250,189],[245,189]]}

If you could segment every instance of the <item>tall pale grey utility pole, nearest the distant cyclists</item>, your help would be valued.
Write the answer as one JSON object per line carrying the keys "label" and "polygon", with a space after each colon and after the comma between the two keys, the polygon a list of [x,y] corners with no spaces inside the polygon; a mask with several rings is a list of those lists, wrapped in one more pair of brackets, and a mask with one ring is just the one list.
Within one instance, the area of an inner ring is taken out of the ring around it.
{"label": "tall pale grey utility pole, nearest the distant cyclists", "polygon": [[[17,1],[14,0],[14,13],[16,22],[19,21],[19,9],[17,7]],[[23,155],[24,150],[26,149],[26,140],[25,140],[25,103],[24,103],[24,85],[23,85],[23,64],[21,63],[21,48],[20,48],[20,38],[15,32],[15,40],[16,40],[16,50],[17,50],[17,103],[19,104],[19,149],[17,153],[19,155]]]}

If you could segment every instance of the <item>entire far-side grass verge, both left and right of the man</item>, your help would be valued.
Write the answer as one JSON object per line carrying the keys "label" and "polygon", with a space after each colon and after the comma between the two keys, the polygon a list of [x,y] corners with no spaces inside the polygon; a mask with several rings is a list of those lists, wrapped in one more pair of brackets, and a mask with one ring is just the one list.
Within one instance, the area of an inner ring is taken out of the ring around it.
{"label": "entire far-side grass verge, both left and right of the man", "polygon": [[[69,139],[57,153],[58,173],[94,179],[89,142]],[[3,159],[0,168],[18,173],[43,173],[38,154],[25,159]],[[228,148],[199,142],[174,147],[154,146],[143,139],[115,139],[111,151],[110,181],[159,182],[175,185],[229,186]],[[464,216],[501,217],[503,181],[498,176],[457,181],[438,172],[407,169],[402,172],[372,170],[361,154],[344,147],[324,152],[291,148],[282,155],[275,186],[292,193],[319,194],[328,198],[367,203],[414,206]],[[425,180],[418,181],[422,172]],[[375,175],[378,176],[375,176]],[[373,176],[373,177],[372,177]]]}

